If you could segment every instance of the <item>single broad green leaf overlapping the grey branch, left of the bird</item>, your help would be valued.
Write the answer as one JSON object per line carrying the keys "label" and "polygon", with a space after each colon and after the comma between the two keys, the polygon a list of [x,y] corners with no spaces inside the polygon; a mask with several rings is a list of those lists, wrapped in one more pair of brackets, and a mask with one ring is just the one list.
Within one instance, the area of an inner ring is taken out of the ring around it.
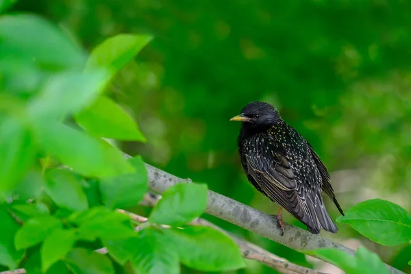
{"label": "single broad green leaf overlapping the grey branch, left of the bird", "polygon": [[164,191],[162,199],[149,216],[149,222],[184,225],[200,216],[206,207],[206,184],[177,184]]}

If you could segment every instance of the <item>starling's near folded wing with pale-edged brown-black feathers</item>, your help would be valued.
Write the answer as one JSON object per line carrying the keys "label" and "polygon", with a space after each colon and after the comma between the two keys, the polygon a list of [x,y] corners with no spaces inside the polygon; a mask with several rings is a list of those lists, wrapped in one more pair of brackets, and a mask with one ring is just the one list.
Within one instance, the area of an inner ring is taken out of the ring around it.
{"label": "starling's near folded wing with pale-edged brown-black feathers", "polygon": [[[242,153],[246,172],[258,184],[262,192],[309,227],[318,227],[310,213],[306,192],[295,179],[282,147],[267,140],[253,140],[253,148]],[[265,142],[261,144],[261,142]]]}

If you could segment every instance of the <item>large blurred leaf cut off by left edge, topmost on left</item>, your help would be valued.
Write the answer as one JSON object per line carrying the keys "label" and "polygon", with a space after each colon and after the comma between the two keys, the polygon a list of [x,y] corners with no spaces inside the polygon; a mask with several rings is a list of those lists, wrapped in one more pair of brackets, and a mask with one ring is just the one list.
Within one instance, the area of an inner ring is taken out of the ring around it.
{"label": "large blurred leaf cut off by left edge, topmost on left", "polygon": [[86,59],[60,29],[29,14],[0,18],[0,59],[10,56],[49,70],[81,69]]}

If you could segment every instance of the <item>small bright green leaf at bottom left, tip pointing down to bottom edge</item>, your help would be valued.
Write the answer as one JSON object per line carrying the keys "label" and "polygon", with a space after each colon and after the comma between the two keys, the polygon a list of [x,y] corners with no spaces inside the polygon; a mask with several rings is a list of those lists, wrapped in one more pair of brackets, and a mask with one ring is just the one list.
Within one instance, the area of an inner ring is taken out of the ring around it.
{"label": "small bright green leaf at bottom left, tip pointing down to bottom edge", "polygon": [[54,229],[41,247],[42,271],[46,272],[58,260],[64,258],[76,240],[73,230]]}

